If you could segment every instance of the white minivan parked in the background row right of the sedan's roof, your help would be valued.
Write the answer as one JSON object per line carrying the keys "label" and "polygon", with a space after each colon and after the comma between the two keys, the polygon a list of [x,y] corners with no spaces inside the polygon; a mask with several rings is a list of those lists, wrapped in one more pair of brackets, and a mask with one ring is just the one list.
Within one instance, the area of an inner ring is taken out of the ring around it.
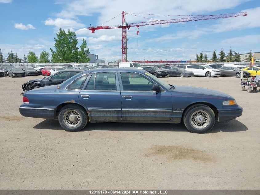
{"label": "white minivan parked in the background row right of the sedan's roof", "polygon": [[194,76],[217,77],[217,76],[221,75],[221,73],[218,69],[214,69],[208,65],[202,65],[202,64],[188,65],[188,66],[186,66],[185,69],[187,71],[193,71]]}

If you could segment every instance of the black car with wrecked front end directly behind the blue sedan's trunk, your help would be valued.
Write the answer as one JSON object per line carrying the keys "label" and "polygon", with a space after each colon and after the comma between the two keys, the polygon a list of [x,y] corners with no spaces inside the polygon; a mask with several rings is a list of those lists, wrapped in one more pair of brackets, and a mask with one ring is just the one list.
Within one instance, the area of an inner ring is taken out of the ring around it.
{"label": "black car with wrecked front end directly behind the blue sedan's trunk", "polygon": [[34,79],[27,81],[22,84],[23,91],[29,91],[31,89],[45,87],[50,85],[58,85],[66,81],[67,79],[77,75],[78,73],[83,72],[82,70],[62,70],[56,74],[44,77],[42,79]]}

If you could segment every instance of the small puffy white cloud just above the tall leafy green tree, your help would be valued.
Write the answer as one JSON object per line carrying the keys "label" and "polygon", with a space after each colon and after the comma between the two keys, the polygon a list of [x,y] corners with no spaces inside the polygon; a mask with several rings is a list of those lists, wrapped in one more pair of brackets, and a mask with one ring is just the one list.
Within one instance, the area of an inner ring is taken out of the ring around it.
{"label": "small puffy white cloud just above the tall leafy green tree", "polygon": [[57,28],[62,28],[62,29],[82,28],[85,26],[84,24],[78,23],[75,20],[62,19],[62,18],[56,18],[56,19],[48,18],[47,20],[44,21],[44,24],[49,26],[56,26]]}

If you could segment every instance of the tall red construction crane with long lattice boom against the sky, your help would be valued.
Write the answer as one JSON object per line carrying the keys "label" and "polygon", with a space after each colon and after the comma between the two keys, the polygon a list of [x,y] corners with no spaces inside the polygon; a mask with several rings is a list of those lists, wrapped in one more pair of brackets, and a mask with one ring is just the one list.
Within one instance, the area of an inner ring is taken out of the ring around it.
{"label": "tall red construction crane with long lattice boom against the sky", "polygon": [[[219,15],[198,15],[193,16],[191,15],[189,18],[178,18],[178,19],[170,19],[170,20],[154,20],[151,22],[137,22],[137,23],[127,23],[125,20],[125,15],[129,14],[127,12],[122,12],[122,24],[113,25],[113,26],[90,26],[88,27],[92,33],[95,30],[99,29],[112,29],[112,28],[122,28],[122,62],[126,62],[127,60],[127,38],[126,38],[126,29],[130,29],[130,27],[136,26],[139,28],[140,26],[147,26],[147,25],[154,25],[154,24],[169,24],[169,23],[178,23],[178,22],[191,22],[191,21],[198,21],[198,20],[210,20],[210,19],[217,19],[217,18],[231,18],[231,17],[238,17],[238,16],[246,16],[246,12],[239,12],[239,13],[231,13],[231,14],[219,14]],[[115,17],[114,17],[115,18]],[[112,18],[113,19],[113,18]]]}

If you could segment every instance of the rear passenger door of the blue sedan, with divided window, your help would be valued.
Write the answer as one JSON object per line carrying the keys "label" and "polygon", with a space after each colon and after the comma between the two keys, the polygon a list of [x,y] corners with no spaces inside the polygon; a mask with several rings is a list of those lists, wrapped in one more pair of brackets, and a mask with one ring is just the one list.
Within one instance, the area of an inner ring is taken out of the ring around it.
{"label": "rear passenger door of the blue sedan, with divided window", "polygon": [[79,93],[91,120],[121,120],[121,96],[115,72],[93,73]]}

